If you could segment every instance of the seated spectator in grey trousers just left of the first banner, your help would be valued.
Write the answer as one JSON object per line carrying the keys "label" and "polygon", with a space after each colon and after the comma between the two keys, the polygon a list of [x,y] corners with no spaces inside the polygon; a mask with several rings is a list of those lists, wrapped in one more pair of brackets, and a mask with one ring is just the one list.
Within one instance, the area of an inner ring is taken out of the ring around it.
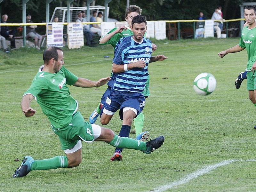
{"label": "seated spectator in grey trousers just left of the first banner", "polygon": [[[27,14],[26,23],[33,23],[33,21],[31,20],[30,14]],[[27,25],[26,28],[27,28],[27,36],[31,37],[32,39],[35,39],[36,49],[40,50],[42,36],[36,33],[35,28],[37,28],[37,25],[30,25],[30,26]]]}

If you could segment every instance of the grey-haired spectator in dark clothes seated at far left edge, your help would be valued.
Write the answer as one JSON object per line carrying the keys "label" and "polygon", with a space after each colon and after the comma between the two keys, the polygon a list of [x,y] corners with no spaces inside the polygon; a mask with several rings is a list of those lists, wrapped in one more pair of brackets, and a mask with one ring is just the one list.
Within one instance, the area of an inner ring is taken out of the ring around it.
{"label": "grey-haired spectator in dark clothes seated at far left edge", "polygon": [[[2,23],[6,23],[8,19],[8,15],[2,16]],[[1,36],[3,36],[5,39],[9,40],[11,42],[11,49],[15,49],[15,36],[16,31],[15,30],[9,30],[8,26],[1,26]]]}

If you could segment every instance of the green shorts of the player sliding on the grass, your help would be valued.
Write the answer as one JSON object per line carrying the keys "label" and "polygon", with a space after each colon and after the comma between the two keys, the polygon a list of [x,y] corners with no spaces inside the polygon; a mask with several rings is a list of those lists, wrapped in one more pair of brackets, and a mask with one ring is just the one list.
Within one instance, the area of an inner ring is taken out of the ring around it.
{"label": "green shorts of the player sliding on the grass", "polygon": [[76,112],[70,124],[61,129],[54,129],[52,131],[59,136],[61,149],[66,150],[73,148],[78,140],[92,142],[94,135],[92,132],[92,125],[89,122],[84,122],[84,117],[80,112]]}

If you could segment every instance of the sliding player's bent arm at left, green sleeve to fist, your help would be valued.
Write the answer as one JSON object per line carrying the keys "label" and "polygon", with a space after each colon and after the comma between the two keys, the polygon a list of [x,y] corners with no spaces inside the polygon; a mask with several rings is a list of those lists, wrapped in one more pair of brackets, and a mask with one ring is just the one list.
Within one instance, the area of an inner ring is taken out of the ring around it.
{"label": "sliding player's bent arm at left, green sleeve to fist", "polygon": [[44,77],[38,77],[34,80],[28,90],[24,93],[20,102],[21,110],[26,117],[33,116],[36,110],[30,107],[30,102],[36,97],[36,95],[47,91],[48,84]]}

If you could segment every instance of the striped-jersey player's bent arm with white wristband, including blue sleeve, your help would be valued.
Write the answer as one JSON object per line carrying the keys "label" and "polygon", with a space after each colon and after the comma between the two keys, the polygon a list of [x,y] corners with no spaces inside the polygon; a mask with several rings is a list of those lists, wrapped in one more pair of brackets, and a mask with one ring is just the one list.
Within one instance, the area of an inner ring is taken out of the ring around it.
{"label": "striped-jersey player's bent arm with white wristband, including blue sleeve", "polygon": [[113,73],[122,73],[124,71],[128,71],[132,68],[144,68],[146,66],[146,63],[144,61],[137,61],[134,63],[124,63],[124,55],[128,51],[126,49],[125,51],[125,46],[124,42],[120,41],[117,43],[119,44],[118,47],[116,47],[115,52],[114,52],[114,59],[112,63],[112,72]]}

